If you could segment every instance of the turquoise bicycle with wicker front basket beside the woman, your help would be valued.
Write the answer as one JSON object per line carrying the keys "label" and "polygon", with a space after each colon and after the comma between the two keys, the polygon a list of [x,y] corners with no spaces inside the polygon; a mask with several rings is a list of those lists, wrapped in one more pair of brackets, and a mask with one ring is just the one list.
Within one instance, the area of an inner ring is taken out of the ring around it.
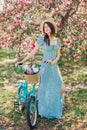
{"label": "turquoise bicycle with wicker front basket beside the woman", "polygon": [[[37,125],[38,118],[38,100],[35,89],[36,83],[38,82],[38,73],[27,75],[20,65],[16,71],[24,74],[25,81],[18,83],[18,102],[15,102],[14,105],[18,105],[20,111],[23,111],[24,108],[27,107],[27,122],[30,128],[33,129]],[[31,91],[28,91],[29,83],[33,83]]]}

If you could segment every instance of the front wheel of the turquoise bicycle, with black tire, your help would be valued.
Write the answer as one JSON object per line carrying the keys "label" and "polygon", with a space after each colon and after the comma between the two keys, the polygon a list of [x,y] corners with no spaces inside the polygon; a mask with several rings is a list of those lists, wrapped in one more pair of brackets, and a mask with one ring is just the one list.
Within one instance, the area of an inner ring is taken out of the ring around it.
{"label": "front wheel of the turquoise bicycle, with black tire", "polygon": [[36,127],[38,116],[37,100],[35,97],[30,97],[27,106],[27,122],[31,129]]}

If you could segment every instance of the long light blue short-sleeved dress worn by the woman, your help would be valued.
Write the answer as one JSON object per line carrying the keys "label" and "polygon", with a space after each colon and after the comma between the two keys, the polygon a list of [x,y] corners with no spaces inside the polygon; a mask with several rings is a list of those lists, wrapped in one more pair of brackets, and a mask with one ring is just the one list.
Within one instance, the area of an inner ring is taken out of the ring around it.
{"label": "long light blue short-sleeved dress worn by the woman", "polygon": [[61,43],[58,39],[57,44],[48,46],[43,37],[40,36],[37,44],[42,47],[43,51],[38,89],[39,115],[46,118],[61,119],[64,102],[64,95],[61,95],[63,84],[61,72],[57,64],[50,65],[44,62],[56,58]]}

